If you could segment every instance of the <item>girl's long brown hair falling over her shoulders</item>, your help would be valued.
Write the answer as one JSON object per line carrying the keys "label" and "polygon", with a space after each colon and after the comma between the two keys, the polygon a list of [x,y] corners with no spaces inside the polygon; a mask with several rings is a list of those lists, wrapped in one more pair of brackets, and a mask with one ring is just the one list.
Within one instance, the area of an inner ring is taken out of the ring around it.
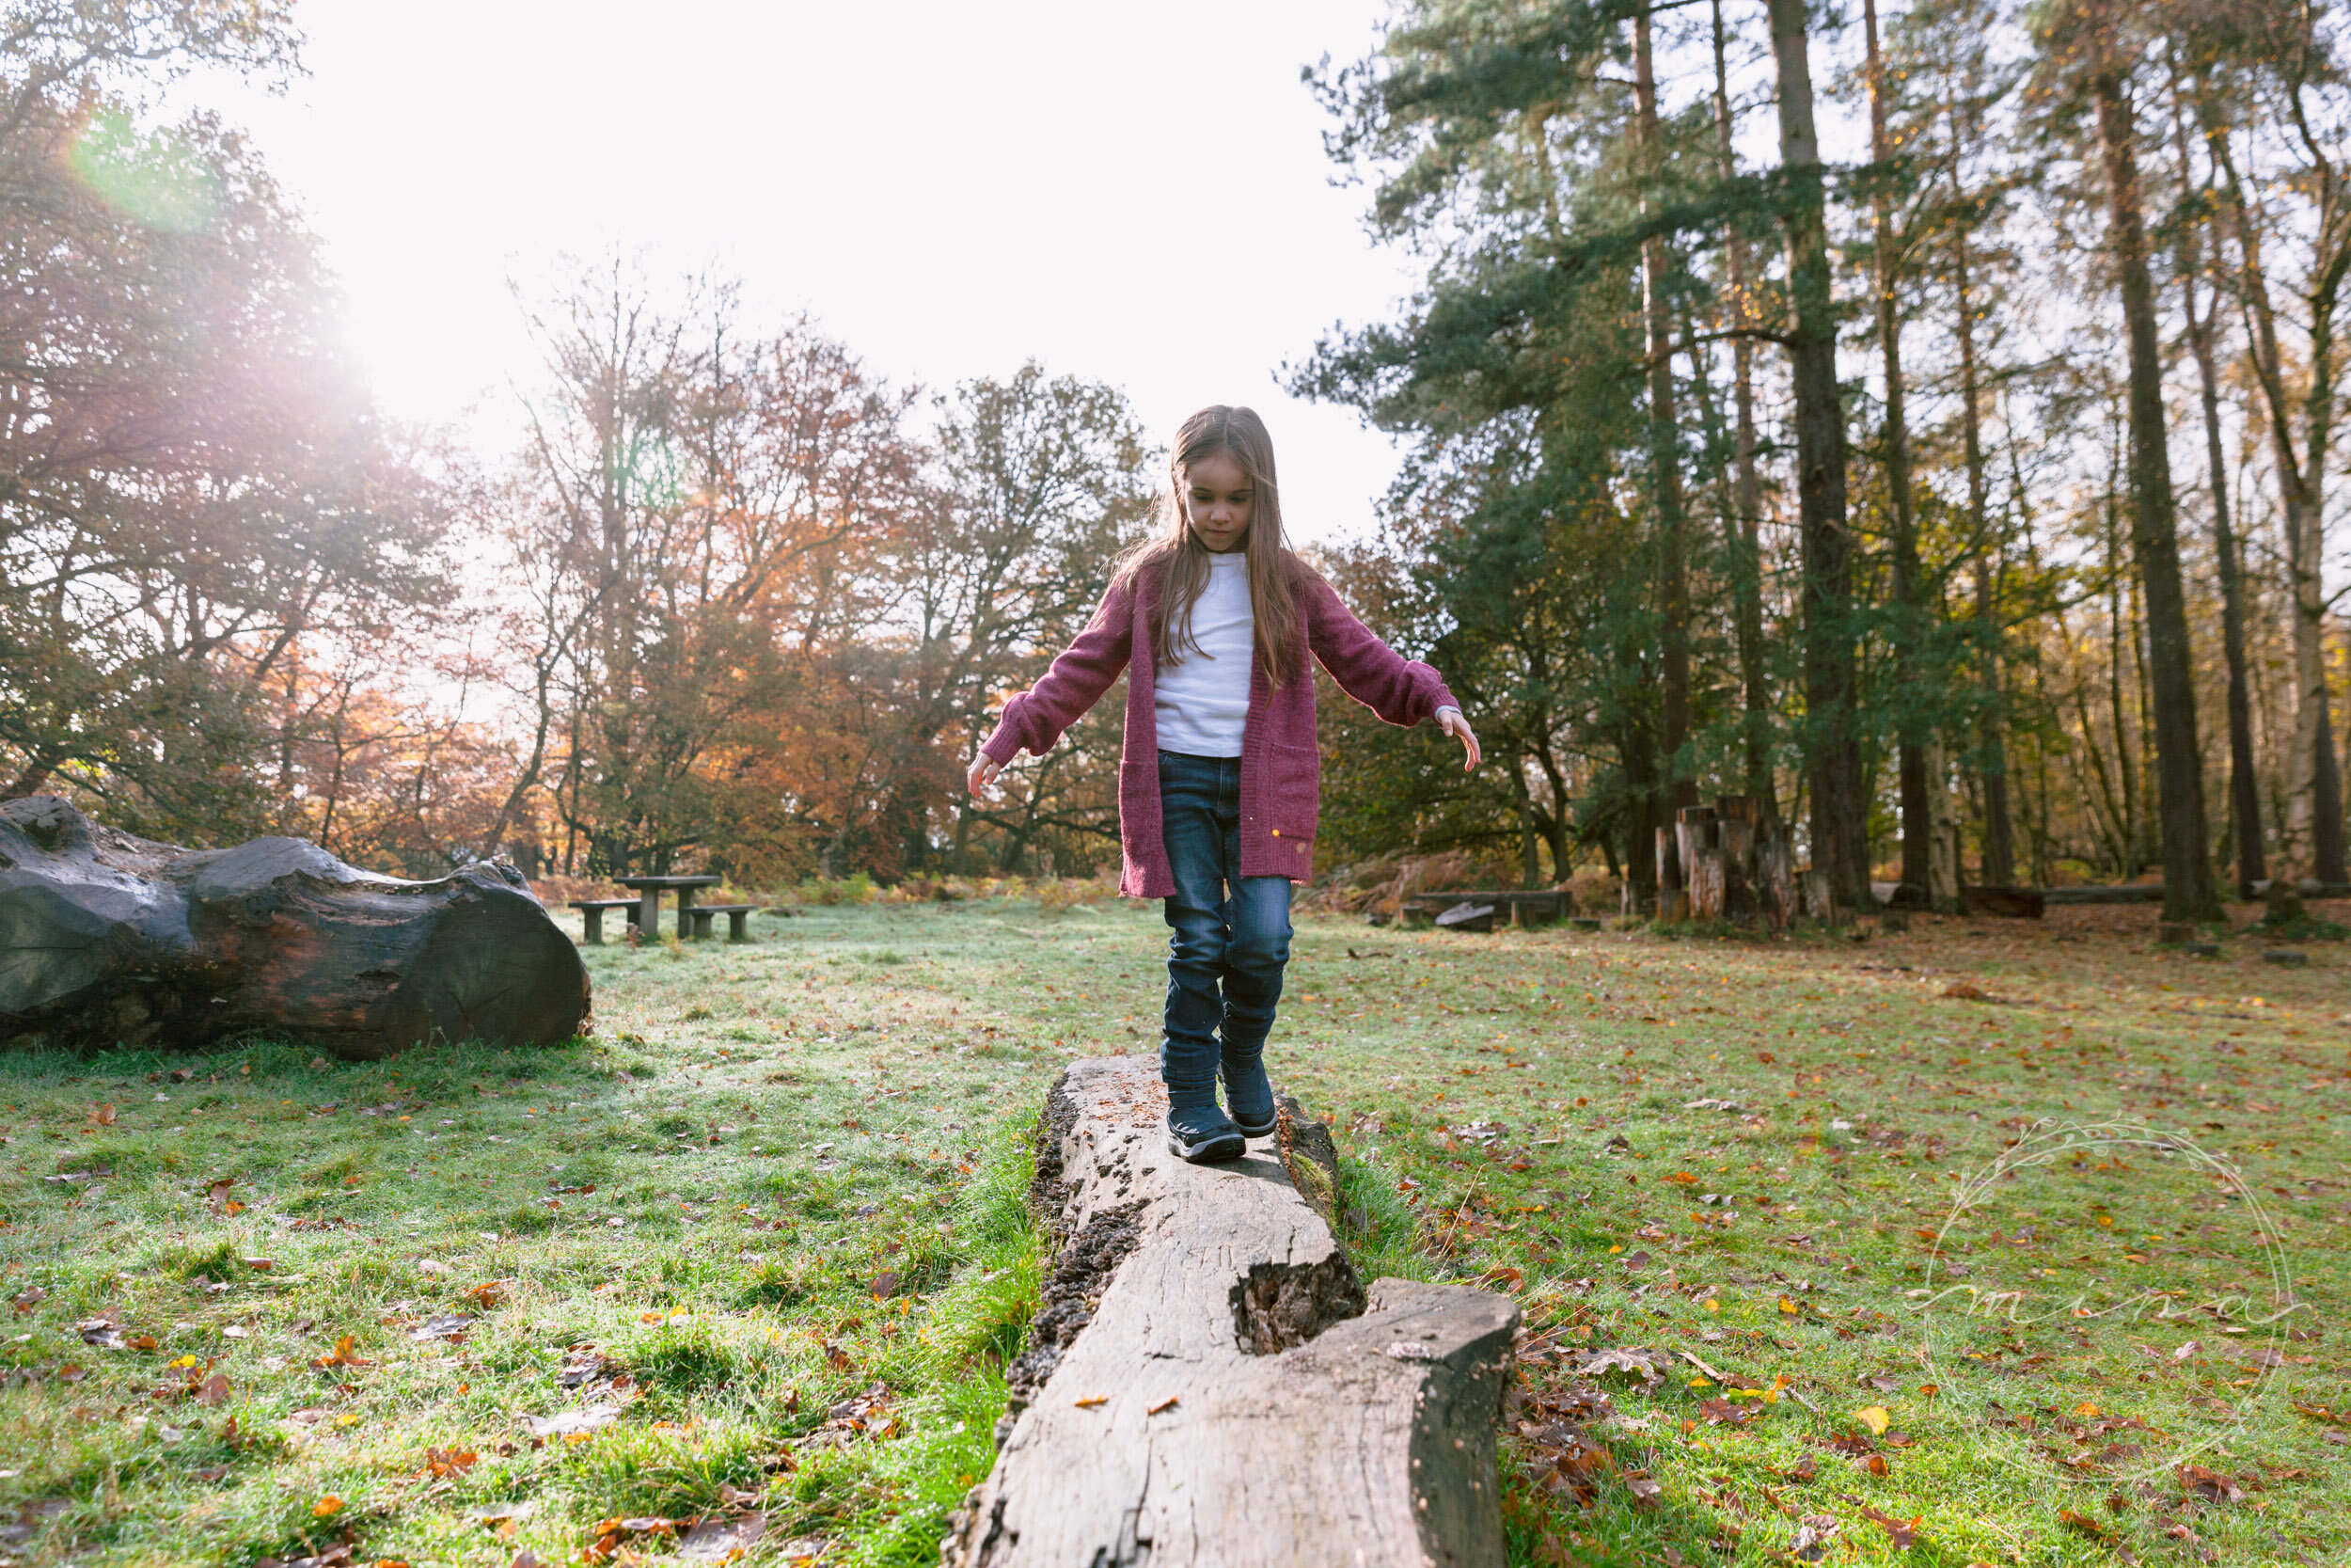
{"label": "girl's long brown hair falling over her shoulders", "polygon": [[1168,654],[1199,654],[1192,637],[1192,604],[1208,585],[1208,545],[1192,531],[1185,512],[1185,470],[1218,451],[1248,475],[1248,609],[1255,621],[1258,663],[1267,684],[1281,686],[1298,675],[1298,585],[1312,567],[1281,543],[1281,489],[1274,484],[1274,437],[1255,409],[1215,404],[1183,421],[1168,451],[1168,487],[1159,496],[1161,531],[1126,552],[1117,581],[1147,578],[1157,583],[1152,604],[1152,661]]}

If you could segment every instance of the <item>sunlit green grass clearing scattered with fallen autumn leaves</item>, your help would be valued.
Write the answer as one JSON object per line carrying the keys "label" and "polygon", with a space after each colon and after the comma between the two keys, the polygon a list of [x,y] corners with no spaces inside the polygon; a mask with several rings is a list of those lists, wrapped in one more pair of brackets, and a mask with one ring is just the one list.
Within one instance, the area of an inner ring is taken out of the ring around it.
{"label": "sunlit green grass clearing scattered with fallen autumn leaves", "polygon": [[[1152,1046],[1164,926],[976,900],[755,929],[590,950],[597,1032],[564,1048],[0,1058],[0,1512],[31,1526],[0,1556],[576,1561],[602,1519],[750,1490],[771,1544],[936,1561],[1037,1295],[1039,1093]],[[1526,1307],[1514,1561],[1768,1563],[1834,1519],[1824,1561],[2323,1563],[2351,1549],[2351,1427],[2306,1413],[2351,1410],[2351,954],[2309,952],[2186,959],[2111,910],[1867,943],[1302,917],[1277,1079],[1333,1121],[1366,1274]],[[2003,1173],[2043,1117],[2179,1147]],[[2302,1305],[2262,1324],[2280,1276]],[[125,1349],[75,1333],[103,1312]],[[461,1342],[416,1338],[451,1312]],[[1672,1375],[1587,1382],[1601,1349]],[[868,1429],[806,1441],[877,1385]],[[578,1441],[524,1425],[607,1394]],[[2116,1420],[2144,1425],[2076,1436]],[[2182,1460],[2241,1500],[2184,1497]]]}

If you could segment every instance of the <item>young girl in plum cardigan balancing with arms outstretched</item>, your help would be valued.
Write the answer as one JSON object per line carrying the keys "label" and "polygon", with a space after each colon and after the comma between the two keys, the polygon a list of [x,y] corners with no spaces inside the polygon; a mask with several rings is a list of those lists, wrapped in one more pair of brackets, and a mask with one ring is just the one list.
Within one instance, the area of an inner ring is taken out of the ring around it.
{"label": "young girl in plum cardigan balancing with arms outstretched", "polygon": [[1168,1150],[1206,1164],[1274,1131],[1265,1037],[1321,792],[1307,654],[1389,724],[1436,719],[1469,769],[1479,745],[1436,670],[1373,637],[1281,545],[1274,442],[1251,409],[1183,421],[1168,480],[1166,531],[1119,562],[1077,642],[1004,705],[969,783],[987,792],[1013,755],[1041,757],[1128,670],[1119,891],[1166,900]]}

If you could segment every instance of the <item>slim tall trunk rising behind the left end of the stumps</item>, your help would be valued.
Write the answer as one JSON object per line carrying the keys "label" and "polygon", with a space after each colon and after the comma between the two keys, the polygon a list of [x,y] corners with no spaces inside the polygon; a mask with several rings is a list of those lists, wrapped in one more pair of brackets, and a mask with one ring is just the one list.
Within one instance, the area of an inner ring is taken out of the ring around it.
{"label": "slim tall trunk rising behind the left end of the stumps", "polygon": [[[1653,207],[1648,181],[1662,165],[1657,132],[1657,78],[1648,49],[1648,7],[1632,21],[1634,59],[1634,139],[1641,148],[1641,212]],[[1681,433],[1674,411],[1674,313],[1667,301],[1665,235],[1641,240],[1641,329],[1648,353],[1648,463],[1657,498],[1657,618],[1665,684],[1660,705],[1660,766],[1665,771],[1665,809],[1660,820],[1674,820],[1683,806],[1697,804],[1690,776],[1690,564],[1686,508],[1681,498]],[[1667,856],[1667,889],[1681,886],[1681,858]]]}

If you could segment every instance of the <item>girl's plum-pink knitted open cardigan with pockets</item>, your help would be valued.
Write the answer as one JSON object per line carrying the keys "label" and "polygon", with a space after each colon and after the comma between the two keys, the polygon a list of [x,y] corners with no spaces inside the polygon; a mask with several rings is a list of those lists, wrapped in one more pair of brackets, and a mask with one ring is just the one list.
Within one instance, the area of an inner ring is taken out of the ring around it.
{"label": "girl's plum-pink knitted open cardigan with pockets", "polygon": [[[1053,661],[1030,691],[1004,705],[997,731],[980,748],[994,762],[1018,752],[1041,757],[1070,724],[1126,677],[1126,741],[1119,752],[1119,846],[1126,865],[1119,891],[1166,898],[1176,891],[1159,832],[1159,722],[1152,708],[1150,607],[1159,585],[1114,583],[1086,630]],[[1357,621],[1331,585],[1307,576],[1298,590],[1307,649],[1347,696],[1389,724],[1418,724],[1439,708],[1460,708],[1444,677],[1404,658]],[[1136,654],[1143,654],[1136,658]],[[1314,682],[1270,686],[1265,665],[1251,661],[1248,722],[1241,731],[1241,875],[1314,875],[1314,825],[1321,813],[1321,750],[1314,738]]]}

